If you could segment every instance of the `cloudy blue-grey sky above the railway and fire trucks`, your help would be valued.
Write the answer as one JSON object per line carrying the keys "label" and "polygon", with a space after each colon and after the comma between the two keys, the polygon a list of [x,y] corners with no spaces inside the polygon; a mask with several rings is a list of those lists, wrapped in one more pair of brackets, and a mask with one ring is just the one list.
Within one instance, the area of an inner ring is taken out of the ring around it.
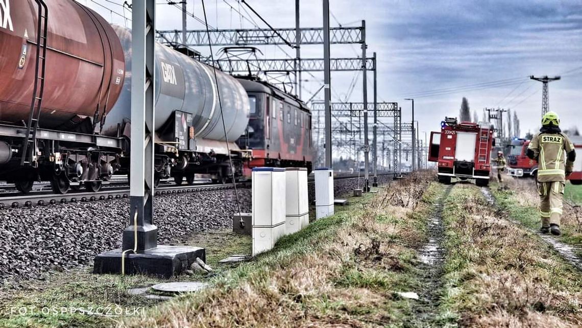
{"label": "cloudy blue-grey sky above the railway and fire trucks", "polygon": [[[128,0],[129,1],[129,0]],[[131,22],[129,10],[112,2],[79,0],[118,24]],[[130,2],[130,1],[129,1]],[[158,0],[164,3],[165,0]],[[294,27],[294,0],[247,0],[275,27]],[[480,118],[484,107],[517,111],[522,134],[540,124],[542,84],[530,75],[562,75],[550,83],[550,108],[566,128],[580,125],[582,114],[582,2],[549,0],[331,0],[332,26],[359,26],[366,20],[368,54],[378,53],[378,98],[397,101],[410,121],[410,103],[420,131],[438,130],[446,116],[457,116],[462,97]],[[99,5],[97,4],[99,3]],[[206,0],[208,23],[218,28],[253,28],[265,24],[236,0]],[[102,8],[114,10],[113,13]],[[232,6],[232,8],[231,8]],[[188,0],[189,12],[203,19],[201,0]],[[241,17],[236,11],[244,14]],[[301,26],[322,24],[318,0],[301,1]],[[120,15],[118,15],[120,14]],[[182,12],[157,6],[158,29],[181,29]],[[189,29],[203,29],[193,17]],[[290,47],[259,47],[266,57],[294,56]],[[209,54],[207,48],[198,49]],[[215,49],[217,50],[217,49]],[[322,47],[304,46],[303,57],[322,57]],[[332,46],[332,57],[356,57],[359,45]],[[360,73],[361,74],[361,73]],[[371,73],[368,74],[371,81]],[[303,98],[322,84],[323,75],[304,75]],[[350,93],[350,84],[357,84]],[[491,82],[491,83],[490,83]],[[488,83],[488,84],[487,84]],[[332,73],[333,100],[361,101],[361,76]],[[372,98],[371,82],[369,99]],[[582,126],[581,126],[582,128]]]}

